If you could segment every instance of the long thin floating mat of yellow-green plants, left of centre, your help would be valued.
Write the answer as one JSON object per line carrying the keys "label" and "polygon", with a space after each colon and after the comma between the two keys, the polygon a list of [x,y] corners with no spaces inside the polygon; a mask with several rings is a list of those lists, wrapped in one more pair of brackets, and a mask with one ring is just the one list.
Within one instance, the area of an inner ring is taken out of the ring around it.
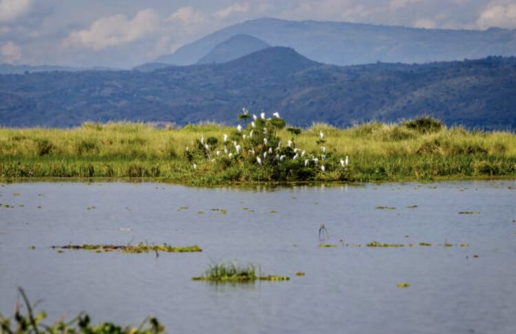
{"label": "long thin floating mat of yellow-green plants, left of centre", "polygon": [[[190,252],[202,252],[201,247],[197,245],[193,246],[178,246],[174,247],[167,243],[162,245],[149,245],[148,243],[138,243],[138,245],[64,245],[64,246],[52,246],[52,249],[84,249],[96,252],[122,252],[122,253],[149,253],[149,252],[166,252],[166,253],[190,253]],[[62,251],[61,251],[62,252]]]}

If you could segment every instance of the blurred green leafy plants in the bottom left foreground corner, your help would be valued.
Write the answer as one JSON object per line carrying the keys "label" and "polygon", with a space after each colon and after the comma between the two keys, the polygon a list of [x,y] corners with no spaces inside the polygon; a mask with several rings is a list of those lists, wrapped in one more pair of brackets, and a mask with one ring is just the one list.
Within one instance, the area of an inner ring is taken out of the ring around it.
{"label": "blurred green leafy plants in the bottom left foreground corner", "polygon": [[103,322],[92,325],[89,315],[79,313],[72,320],[65,322],[63,318],[47,325],[41,322],[47,318],[45,312],[34,313],[32,306],[23,289],[18,288],[19,294],[25,303],[26,314],[20,312],[17,304],[14,315],[4,318],[0,314],[1,333],[6,334],[32,334],[32,333],[85,333],[85,334],[160,334],[164,333],[164,326],[156,318],[146,318],[138,327],[122,327],[111,322]]}

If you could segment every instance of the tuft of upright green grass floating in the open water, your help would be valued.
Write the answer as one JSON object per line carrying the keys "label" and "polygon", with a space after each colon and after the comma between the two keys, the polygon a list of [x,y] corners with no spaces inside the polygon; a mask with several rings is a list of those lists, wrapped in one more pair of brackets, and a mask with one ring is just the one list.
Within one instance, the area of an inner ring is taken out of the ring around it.
{"label": "tuft of upright green grass floating in the open water", "polygon": [[288,276],[264,276],[256,265],[237,265],[236,263],[215,264],[208,267],[204,276],[193,277],[192,280],[208,282],[248,283],[257,280],[290,280]]}

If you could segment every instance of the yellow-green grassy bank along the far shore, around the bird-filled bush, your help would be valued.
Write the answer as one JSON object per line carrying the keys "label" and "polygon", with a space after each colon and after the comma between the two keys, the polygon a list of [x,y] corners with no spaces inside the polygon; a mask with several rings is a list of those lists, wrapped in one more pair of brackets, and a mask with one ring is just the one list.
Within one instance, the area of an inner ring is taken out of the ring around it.
{"label": "yellow-green grassy bank along the far shore, around the bird-filled bush", "polygon": [[[227,126],[206,123],[155,129],[140,123],[86,123],[74,129],[0,129],[0,179],[123,179],[217,186],[516,178],[513,133],[461,127],[421,131],[404,122],[348,129],[314,124],[299,135],[279,129],[277,137],[316,152],[321,131],[329,155],[350,157],[345,175],[338,170],[312,170],[304,175],[278,172],[277,166],[252,164],[249,159],[219,164],[188,156],[187,147],[195,147],[200,137],[218,138],[220,143],[224,134],[235,135],[235,128]],[[222,147],[214,144],[213,150],[215,145]]]}

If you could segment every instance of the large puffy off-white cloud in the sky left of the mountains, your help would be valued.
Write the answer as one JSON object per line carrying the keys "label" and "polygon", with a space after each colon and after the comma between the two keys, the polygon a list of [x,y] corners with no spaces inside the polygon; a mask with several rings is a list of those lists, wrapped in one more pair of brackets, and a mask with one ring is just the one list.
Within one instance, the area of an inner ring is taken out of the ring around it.
{"label": "large puffy off-white cloud in the sky left of the mountains", "polygon": [[89,47],[94,50],[125,45],[152,34],[158,29],[160,17],[155,10],[140,10],[129,21],[125,15],[103,17],[87,30],[74,31],[65,39],[65,47]]}

